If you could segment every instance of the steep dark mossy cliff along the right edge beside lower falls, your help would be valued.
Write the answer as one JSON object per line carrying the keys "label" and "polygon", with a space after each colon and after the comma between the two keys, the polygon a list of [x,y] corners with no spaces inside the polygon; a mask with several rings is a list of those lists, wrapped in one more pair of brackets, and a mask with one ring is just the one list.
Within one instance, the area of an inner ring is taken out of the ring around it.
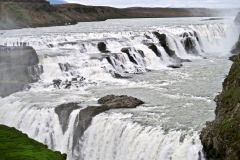
{"label": "steep dark mossy cliff along the right edge beside lower falls", "polygon": [[234,58],[223,91],[215,99],[216,118],[207,122],[200,139],[206,158],[212,160],[240,159],[240,56]]}

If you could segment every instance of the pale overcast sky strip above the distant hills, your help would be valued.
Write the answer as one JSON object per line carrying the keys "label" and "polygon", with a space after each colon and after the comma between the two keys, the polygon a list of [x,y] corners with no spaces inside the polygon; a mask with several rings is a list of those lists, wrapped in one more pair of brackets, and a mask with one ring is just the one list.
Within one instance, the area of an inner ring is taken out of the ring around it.
{"label": "pale overcast sky strip above the distant hills", "polygon": [[65,1],[87,5],[105,5],[114,7],[143,6],[143,7],[240,8],[240,0],[65,0]]}

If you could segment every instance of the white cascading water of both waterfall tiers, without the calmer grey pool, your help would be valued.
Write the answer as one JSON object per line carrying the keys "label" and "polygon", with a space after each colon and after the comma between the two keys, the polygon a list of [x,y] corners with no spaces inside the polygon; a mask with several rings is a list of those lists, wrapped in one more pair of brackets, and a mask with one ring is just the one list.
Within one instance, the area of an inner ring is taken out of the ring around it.
{"label": "white cascading water of both waterfall tiers, without the calmer grey pool", "polygon": [[77,26],[75,32],[57,27],[6,31],[0,44],[21,42],[36,50],[40,67],[28,72],[40,80],[30,89],[0,98],[0,123],[67,153],[69,160],[203,160],[198,131],[166,131],[161,124],[134,122],[131,114],[104,113],[74,139],[81,108],[69,114],[66,131],[55,108],[69,102],[91,104],[96,101],[91,87],[127,86],[136,74],[228,56],[238,38],[233,35],[234,27],[225,23],[93,33],[78,32]]}

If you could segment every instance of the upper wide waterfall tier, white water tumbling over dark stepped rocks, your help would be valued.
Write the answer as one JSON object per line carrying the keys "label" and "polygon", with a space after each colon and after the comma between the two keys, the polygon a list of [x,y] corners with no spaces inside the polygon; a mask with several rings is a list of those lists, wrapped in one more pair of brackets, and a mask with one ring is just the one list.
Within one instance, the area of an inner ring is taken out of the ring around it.
{"label": "upper wide waterfall tier, white water tumbling over dark stepped rocks", "polygon": [[6,31],[0,43],[33,46],[43,66],[41,81],[45,85],[78,88],[85,83],[109,83],[117,81],[114,78],[130,78],[151,70],[179,68],[191,59],[227,54],[236,41],[233,26],[200,22],[118,32],[114,28],[105,32],[103,27],[94,33],[82,33],[86,28],[80,25],[69,27],[67,32],[64,27],[56,31],[23,29]]}

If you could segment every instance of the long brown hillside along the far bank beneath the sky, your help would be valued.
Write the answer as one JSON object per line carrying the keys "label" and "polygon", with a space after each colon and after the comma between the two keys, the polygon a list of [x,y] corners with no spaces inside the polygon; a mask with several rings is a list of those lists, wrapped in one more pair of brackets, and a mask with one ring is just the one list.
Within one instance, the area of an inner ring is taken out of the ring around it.
{"label": "long brown hillside along the far bank beneath the sky", "polygon": [[126,8],[51,5],[45,0],[0,0],[0,29],[42,27],[103,21],[116,18],[216,16],[219,10],[203,8]]}

